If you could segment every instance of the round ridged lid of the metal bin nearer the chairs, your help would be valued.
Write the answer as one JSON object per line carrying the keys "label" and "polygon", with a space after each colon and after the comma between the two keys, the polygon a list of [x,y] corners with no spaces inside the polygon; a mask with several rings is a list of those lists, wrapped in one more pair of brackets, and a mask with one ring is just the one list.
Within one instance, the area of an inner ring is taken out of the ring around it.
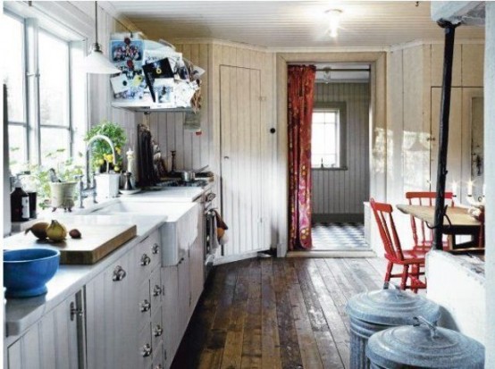
{"label": "round ridged lid of the metal bin nearer the chairs", "polygon": [[378,289],[348,300],[348,314],[361,321],[383,325],[414,324],[415,316],[430,322],[440,318],[440,306],[423,296],[401,289]]}

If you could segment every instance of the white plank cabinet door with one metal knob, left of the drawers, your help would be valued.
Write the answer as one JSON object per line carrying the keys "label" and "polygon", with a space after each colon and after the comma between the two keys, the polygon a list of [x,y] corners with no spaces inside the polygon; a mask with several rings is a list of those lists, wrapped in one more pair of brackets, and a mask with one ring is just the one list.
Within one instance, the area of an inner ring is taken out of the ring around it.
{"label": "white plank cabinet door with one metal knob, left of the drawers", "polygon": [[127,253],[86,285],[88,368],[137,365],[135,272]]}

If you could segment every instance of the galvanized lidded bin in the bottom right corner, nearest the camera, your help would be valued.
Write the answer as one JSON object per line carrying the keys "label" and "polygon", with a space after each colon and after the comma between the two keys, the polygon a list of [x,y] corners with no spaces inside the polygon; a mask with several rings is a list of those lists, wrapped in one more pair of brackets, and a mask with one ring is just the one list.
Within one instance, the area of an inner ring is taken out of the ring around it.
{"label": "galvanized lidded bin in the bottom right corner, nearest the camera", "polygon": [[366,355],[372,369],[484,367],[484,347],[480,342],[425,321],[373,334]]}

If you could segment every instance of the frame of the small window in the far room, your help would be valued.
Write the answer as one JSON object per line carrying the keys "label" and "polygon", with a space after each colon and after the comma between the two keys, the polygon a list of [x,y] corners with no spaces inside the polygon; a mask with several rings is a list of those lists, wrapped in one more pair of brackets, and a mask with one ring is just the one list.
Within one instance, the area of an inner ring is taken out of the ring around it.
{"label": "frame of the small window in the far room", "polygon": [[[321,167],[311,165],[315,171],[348,171],[347,163],[347,103],[339,102],[318,102],[313,105],[314,113],[338,111],[339,112],[339,166]],[[313,129],[313,120],[311,122]]]}

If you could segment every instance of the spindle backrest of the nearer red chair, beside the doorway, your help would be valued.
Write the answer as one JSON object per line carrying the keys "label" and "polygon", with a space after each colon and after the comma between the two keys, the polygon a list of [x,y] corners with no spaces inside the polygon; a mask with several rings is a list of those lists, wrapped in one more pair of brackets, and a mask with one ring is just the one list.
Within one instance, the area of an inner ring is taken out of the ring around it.
{"label": "spindle backrest of the nearer red chair, beside the doorway", "polygon": [[385,255],[397,260],[404,260],[402,247],[400,246],[399,235],[395,228],[395,223],[392,217],[393,208],[390,204],[377,203],[374,198],[370,198],[370,205],[373,210],[374,219],[380,231]]}

